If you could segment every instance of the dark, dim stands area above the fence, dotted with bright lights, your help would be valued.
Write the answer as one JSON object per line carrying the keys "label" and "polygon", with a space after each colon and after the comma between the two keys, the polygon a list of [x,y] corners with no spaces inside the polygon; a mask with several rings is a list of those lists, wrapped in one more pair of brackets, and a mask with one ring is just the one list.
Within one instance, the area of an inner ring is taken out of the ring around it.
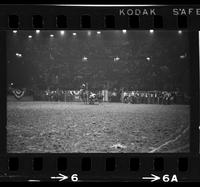
{"label": "dark, dim stands area above the fence, dotted with bright lights", "polygon": [[[60,31],[9,31],[8,84],[18,88],[77,89],[88,82],[95,89],[188,92],[187,32],[96,32],[65,31],[62,36]],[[82,60],[84,56],[87,61]],[[118,61],[114,61],[116,57]]]}

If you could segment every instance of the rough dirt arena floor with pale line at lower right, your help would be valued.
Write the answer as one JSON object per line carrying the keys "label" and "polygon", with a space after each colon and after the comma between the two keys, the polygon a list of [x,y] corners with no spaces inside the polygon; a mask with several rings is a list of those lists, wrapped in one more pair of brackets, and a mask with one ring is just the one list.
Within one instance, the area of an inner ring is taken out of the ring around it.
{"label": "rough dirt arena floor with pale line at lower right", "polygon": [[189,152],[187,105],[8,102],[9,153]]}

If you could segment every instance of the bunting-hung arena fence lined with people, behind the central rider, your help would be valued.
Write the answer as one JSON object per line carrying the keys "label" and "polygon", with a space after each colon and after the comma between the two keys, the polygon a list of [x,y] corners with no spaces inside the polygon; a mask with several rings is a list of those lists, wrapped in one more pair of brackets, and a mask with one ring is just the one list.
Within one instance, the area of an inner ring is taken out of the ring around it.
{"label": "bunting-hung arena fence lined with people, behind the central rider", "polygon": [[[22,91],[21,91],[22,92]],[[18,95],[16,95],[18,93]],[[79,90],[12,90],[8,101],[63,101],[81,102]],[[190,97],[182,92],[169,91],[109,91],[100,90],[93,93],[102,96],[101,102],[122,102],[132,104],[189,104]]]}

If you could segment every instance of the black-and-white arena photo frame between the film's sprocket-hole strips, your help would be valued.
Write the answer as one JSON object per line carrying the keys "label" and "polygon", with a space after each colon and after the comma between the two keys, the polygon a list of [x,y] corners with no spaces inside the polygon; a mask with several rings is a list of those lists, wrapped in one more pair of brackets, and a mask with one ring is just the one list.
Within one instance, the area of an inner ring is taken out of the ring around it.
{"label": "black-and-white arena photo frame between the film's sprocket-hole strips", "polygon": [[7,31],[8,153],[189,153],[184,30]]}

